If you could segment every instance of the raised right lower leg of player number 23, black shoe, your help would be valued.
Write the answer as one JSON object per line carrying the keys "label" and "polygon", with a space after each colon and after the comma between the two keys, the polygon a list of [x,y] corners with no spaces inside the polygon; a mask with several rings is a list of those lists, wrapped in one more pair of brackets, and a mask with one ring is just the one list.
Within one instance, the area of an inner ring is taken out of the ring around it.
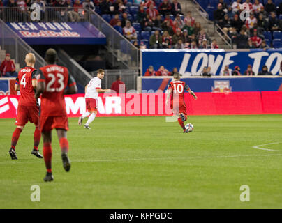
{"label": "raised right lower leg of player number 23, black shoe", "polygon": [[68,159],[68,139],[66,139],[66,130],[56,129],[61,146],[61,160],[63,160],[63,167],[65,171],[70,171],[71,169],[71,160]]}

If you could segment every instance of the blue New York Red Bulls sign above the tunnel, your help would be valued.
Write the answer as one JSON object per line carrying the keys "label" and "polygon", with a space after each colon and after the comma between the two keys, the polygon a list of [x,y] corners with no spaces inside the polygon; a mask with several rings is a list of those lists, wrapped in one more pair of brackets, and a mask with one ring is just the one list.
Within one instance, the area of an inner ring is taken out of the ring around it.
{"label": "blue New York Red Bulls sign above the tunnel", "polygon": [[106,38],[89,22],[8,22],[30,45],[105,44]]}

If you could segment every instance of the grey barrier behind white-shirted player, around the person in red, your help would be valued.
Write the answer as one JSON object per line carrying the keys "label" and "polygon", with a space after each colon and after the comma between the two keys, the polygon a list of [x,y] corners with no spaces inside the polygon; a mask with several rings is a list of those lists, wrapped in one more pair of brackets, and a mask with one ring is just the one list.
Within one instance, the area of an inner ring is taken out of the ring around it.
{"label": "grey barrier behind white-shirted player, around the person in red", "polygon": [[[90,72],[92,76],[96,76],[96,71]],[[126,85],[126,91],[137,90],[137,78],[139,75],[138,69],[125,70],[105,70],[105,78],[102,81],[104,89],[110,89],[112,82],[116,81],[117,75],[121,76],[121,81]]]}

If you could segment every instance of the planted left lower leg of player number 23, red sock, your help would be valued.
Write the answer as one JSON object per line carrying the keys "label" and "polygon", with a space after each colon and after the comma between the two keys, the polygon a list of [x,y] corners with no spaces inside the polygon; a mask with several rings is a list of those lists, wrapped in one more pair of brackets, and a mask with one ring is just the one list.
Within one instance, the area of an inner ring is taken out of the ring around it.
{"label": "planted left lower leg of player number 23, red sock", "polygon": [[52,134],[50,132],[42,132],[43,137],[43,156],[44,156],[44,162],[45,167],[47,169],[46,176],[44,178],[44,181],[52,181],[54,180],[54,177],[52,175]]}

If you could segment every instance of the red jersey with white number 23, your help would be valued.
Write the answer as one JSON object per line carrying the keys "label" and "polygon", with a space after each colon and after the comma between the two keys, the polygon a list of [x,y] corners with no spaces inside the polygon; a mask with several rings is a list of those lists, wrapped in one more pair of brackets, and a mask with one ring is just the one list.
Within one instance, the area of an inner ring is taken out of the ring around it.
{"label": "red jersey with white number 23", "polygon": [[64,90],[75,85],[68,69],[56,64],[39,68],[38,82],[45,82],[45,91],[41,95],[40,116],[66,116]]}

